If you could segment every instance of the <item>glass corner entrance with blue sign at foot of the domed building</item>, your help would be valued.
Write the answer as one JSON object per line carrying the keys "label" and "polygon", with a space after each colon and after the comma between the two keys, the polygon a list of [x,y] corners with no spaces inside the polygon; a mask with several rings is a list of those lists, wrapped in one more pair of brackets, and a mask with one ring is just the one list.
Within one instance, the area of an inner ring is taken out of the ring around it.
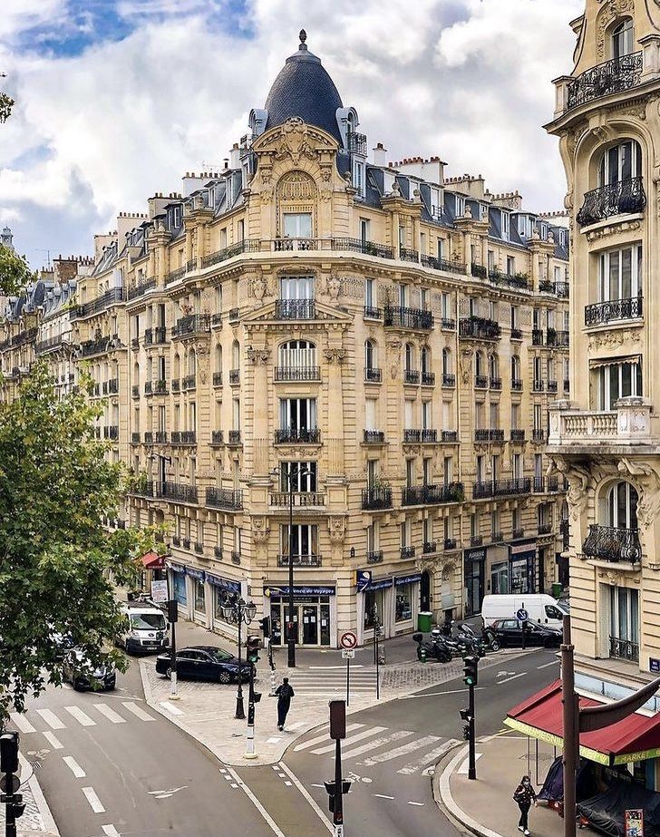
{"label": "glass corner entrance with blue sign at foot of the domed building", "polygon": [[273,645],[286,645],[293,631],[296,645],[336,647],[335,588],[294,586],[293,618],[288,595],[286,586],[264,586],[264,613],[270,614]]}

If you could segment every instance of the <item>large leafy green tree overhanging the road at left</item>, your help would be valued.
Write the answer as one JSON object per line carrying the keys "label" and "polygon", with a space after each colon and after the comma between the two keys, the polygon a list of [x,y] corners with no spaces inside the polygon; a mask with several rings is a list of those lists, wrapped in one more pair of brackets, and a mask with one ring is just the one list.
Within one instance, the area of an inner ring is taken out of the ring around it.
{"label": "large leafy green tree overhanging the road at left", "polygon": [[99,414],[81,391],[58,400],[44,365],[0,404],[0,728],[10,709],[62,683],[53,633],[95,665],[125,667],[113,585],[134,585],[152,530],[103,529],[125,473],[93,437]]}

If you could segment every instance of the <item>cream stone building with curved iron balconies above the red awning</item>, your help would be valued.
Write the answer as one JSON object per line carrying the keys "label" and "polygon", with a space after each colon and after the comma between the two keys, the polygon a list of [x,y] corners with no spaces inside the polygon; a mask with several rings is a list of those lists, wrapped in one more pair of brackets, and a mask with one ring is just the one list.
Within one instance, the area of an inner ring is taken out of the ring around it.
{"label": "cream stone building with curved iron balconies above the red awning", "polygon": [[577,685],[620,696],[660,667],[660,8],[587,0],[571,26],[547,126],[573,232],[571,398],[551,408],[548,453],[569,483]]}

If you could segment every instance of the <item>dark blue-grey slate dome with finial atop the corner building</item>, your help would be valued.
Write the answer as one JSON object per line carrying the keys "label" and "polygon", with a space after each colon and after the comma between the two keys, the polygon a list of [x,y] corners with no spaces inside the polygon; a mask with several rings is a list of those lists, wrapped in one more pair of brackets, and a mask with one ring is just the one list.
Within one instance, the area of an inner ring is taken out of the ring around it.
{"label": "dark blue-grey slate dome with finial atop the corner building", "polygon": [[266,130],[298,116],[303,122],[323,128],[341,145],[335,112],[343,107],[342,99],[335,83],[321,66],[321,59],[307,49],[306,38],[305,30],[301,29],[297,52],[286,59],[270,88],[266,100]]}

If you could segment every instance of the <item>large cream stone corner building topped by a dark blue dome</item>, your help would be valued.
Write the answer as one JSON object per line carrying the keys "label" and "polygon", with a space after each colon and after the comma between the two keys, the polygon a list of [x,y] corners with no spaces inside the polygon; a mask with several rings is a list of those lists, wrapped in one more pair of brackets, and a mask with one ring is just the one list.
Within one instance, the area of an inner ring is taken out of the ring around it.
{"label": "large cream stone corner building topped by a dark blue dome", "polygon": [[182,614],[231,636],[219,606],[247,579],[286,626],[290,560],[309,646],[369,640],[374,605],[393,636],[420,610],[550,589],[563,215],[439,158],[377,144],[367,161],[303,33],[249,128],[224,170],[97,239],[73,318],[93,374],[119,379],[105,426],[134,472],[126,519],[169,525]]}

